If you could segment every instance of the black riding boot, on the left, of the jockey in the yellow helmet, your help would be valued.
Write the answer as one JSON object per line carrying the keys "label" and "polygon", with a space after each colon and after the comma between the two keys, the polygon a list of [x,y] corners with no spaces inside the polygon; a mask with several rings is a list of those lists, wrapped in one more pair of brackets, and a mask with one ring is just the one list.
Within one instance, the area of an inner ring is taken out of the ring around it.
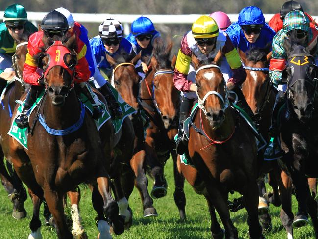
{"label": "black riding boot, on the left, of the jockey in the yellow helmet", "polygon": [[188,117],[188,113],[191,107],[191,100],[181,96],[181,104],[180,104],[180,115],[179,115],[179,129],[178,129],[178,137],[176,142],[176,151],[177,154],[182,155],[187,150],[187,142],[186,138],[183,137],[183,123]]}

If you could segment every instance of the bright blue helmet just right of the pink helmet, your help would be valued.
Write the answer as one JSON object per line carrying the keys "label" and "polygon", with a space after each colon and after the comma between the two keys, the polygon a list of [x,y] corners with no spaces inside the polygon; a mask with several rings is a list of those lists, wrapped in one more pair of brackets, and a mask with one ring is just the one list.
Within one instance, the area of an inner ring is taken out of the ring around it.
{"label": "bright blue helmet just right of the pink helmet", "polygon": [[241,10],[238,19],[239,26],[265,24],[265,18],[261,9],[256,6],[248,6]]}

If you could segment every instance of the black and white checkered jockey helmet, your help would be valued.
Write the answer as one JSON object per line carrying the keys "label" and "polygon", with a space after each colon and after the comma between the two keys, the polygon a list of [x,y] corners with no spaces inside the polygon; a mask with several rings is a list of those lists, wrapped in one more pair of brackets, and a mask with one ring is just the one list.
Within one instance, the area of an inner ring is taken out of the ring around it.
{"label": "black and white checkered jockey helmet", "polygon": [[101,38],[114,39],[123,38],[123,27],[120,21],[108,18],[103,21],[99,27],[99,36]]}

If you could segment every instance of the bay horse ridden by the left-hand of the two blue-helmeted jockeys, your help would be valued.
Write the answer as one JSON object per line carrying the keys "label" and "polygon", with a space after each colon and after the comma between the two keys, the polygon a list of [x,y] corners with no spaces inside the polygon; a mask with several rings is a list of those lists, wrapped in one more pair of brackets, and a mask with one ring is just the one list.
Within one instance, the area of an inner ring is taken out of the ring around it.
{"label": "bay horse ridden by the left-hand of the two blue-helmeted jockeys", "polygon": [[[150,127],[146,132],[146,143],[152,150],[152,158],[159,162],[160,174],[163,174],[164,165],[170,154],[173,159],[174,174],[174,201],[185,219],[185,194],[183,191],[184,177],[177,170],[177,154],[175,152],[174,135],[177,134],[179,120],[179,91],[173,85],[173,69],[176,61],[172,62],[170,53],[172,42],[170,39],[164,44],[162,40],[153,43],[153,52],[150,59],[151,71],[141,82],[140,100],[150,119]],[[164,178],[156,180],[151,195],[155,198],[166,195],[167,183]]]}

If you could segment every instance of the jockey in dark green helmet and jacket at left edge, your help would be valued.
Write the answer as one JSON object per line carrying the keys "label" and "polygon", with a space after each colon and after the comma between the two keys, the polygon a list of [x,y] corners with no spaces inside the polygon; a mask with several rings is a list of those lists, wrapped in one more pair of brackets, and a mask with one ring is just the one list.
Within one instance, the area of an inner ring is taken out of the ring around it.
{"label": "jockey in dark green helmet and jacket at left edge", "polygon": [[[38,29],[27,21],[27,13],[20,4],[12,4],[4,11],[3,23],[0,23],[0,78],[10,80],[15,76],[12,66],[12,55],[16,51],[16,41],[22,35],[30,35]],[[6,85],[6,81],[0,81],[0,91]]]}

